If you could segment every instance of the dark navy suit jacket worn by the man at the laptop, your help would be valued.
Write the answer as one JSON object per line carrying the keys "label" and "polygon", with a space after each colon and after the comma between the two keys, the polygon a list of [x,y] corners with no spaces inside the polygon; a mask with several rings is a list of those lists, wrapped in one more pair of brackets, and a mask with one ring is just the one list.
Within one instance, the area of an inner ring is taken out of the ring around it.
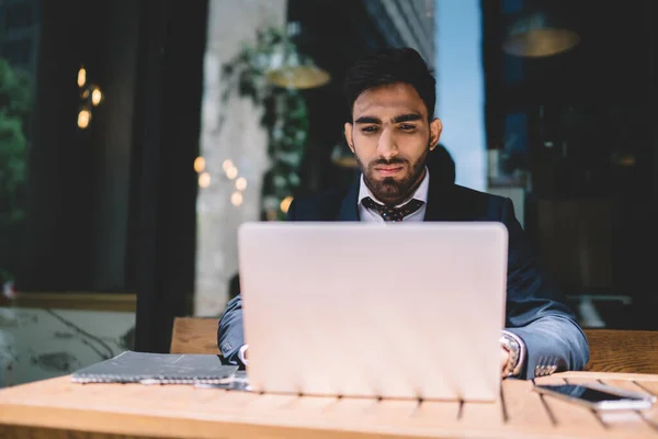
{"label": "dark navy suit jacket worn by the man at the laptop", "polygon": [[[359,180],[347,190],[296,199],[288,221],[359,221]],[[532,379],[564,370],[579,370],[589,360],[587,338],[564,297],[537,263],[511,200],[430,178],[424,221],[496,221],[509,233],[506,327],[526,346],[521,376]],[[231,300],[219,322],[217,342],[231,362],[243,345],[241,299]]]}

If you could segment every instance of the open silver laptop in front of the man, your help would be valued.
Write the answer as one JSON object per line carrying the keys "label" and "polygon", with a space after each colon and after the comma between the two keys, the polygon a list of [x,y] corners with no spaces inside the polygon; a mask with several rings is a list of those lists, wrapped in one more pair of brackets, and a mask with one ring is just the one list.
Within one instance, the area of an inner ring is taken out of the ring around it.
{"label": "open silver laptop in front of the man", "polygon": [[503,225],[249,223],[238,248],[254,391],[499,396]]}

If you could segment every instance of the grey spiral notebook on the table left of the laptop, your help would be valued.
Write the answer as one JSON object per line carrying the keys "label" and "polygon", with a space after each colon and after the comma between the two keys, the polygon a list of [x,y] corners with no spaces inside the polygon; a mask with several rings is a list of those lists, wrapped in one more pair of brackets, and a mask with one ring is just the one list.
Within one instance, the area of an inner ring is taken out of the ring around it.
{"label": "grey spiral notebook on the table left of the laptop", "polygon": [[222,384],[230,381],[237,365],[222,364],[219,357],[205,353],[148,353],[124,351],[105,361],[82,368],[73,383]]}

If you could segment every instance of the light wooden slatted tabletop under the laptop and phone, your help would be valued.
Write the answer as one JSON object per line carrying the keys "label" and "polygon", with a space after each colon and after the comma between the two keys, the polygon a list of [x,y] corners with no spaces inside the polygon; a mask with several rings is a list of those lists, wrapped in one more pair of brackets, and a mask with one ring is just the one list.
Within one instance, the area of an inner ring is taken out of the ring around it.
{"label": "light wooden slatted tabletop under the laptop and phone", "polygon": [[[658,375],[568,372],[537,383],[602,381],[658,393]],[[658,438],[658,405],[593,413],[507,380],[497,403],[258,395],[186,385],[71,384],[0,391],[1,438]]]}

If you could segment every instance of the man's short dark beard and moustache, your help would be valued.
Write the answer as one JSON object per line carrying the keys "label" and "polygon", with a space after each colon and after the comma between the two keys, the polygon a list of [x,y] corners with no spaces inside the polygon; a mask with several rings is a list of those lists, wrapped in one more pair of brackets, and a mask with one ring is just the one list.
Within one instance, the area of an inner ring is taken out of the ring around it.
{"label": "man's short dark beard and moustache", "polygon": [[[426,149],[423,155],[415,162],[411,162],[404,157],[394,157],[390,160],[379,158],[367,164],[367,166],[365,166],[359,157],[356,157],[356,161],[363,173],[365,185],[367,185],[373,195],[384,204],[394,206],[410,198],[420,184],[422,176],[424,175],[428,153],[429,148]],[[401,177],[385,177],[377,180],[375,178],[375,167],[383,165],[402,166],[406,172]]]}

